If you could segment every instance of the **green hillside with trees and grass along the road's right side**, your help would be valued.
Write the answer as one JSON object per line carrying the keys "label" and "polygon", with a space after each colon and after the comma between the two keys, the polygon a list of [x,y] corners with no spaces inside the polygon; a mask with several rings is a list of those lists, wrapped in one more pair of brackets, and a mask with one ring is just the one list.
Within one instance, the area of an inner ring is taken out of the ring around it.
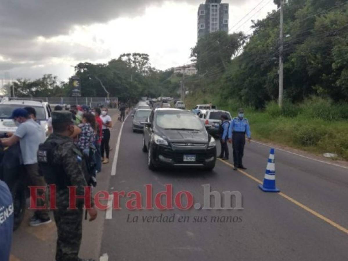
{"label": "green hillside with trees and grass along the road's right side", "polygon": [[[275,1],[277,3],[279,1]],[[216,32],[192,48],[187,107],[246,109],[253,137],[348,160],[348,2],[284,1],[284,106],[279,109],[279,10],[252,35]]]}

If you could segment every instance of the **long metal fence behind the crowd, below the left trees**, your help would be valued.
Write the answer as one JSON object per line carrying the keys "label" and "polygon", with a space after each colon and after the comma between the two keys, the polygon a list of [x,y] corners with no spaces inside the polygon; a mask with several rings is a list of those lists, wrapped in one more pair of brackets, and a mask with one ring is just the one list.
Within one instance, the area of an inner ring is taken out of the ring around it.
{"label": "long metal fence behind the crowd, below the left trees", "polygon": [[117,97],[32,97],[26,98],[31,100],[43,100],[47,101],[51,105],[87,105],[90,107],[96,106],[109,106],[111,108],[117,108]]}

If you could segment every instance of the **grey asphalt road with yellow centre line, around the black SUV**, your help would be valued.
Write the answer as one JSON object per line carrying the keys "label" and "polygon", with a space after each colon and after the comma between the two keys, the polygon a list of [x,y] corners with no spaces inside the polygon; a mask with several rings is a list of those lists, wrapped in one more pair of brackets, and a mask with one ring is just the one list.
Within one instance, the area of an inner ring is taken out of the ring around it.
{"label": "grey asphalt road with yellow centre line, around the black SUV", "polygon": [[[209,184],[221,195],[240,191],[244,209],[126,210],[127,200],[121,198],[122,210],[113,211],[104,223],[101,254],[107,253],[109,260],[348,260],[347,169],[276,150],[282,194],[268,194],[257,187],[269,153],[264,145],[246,146],[244,173],[222,161],[213,172],[152,172],[141,147],[142,134],[132,132],[129,117],[110,192],[138,190],[144,195],[144,185],[152,184],[156,194],[172,184],[173,195],[188,190],[195,203],[203,203],[202,185]],[[161,214],[175,214],[174,222],[142,220]],[[185,216],[188,222],[179,222]],[[212,216],[236,222],[211,222]],[[206,222],[195,222],[204,217]]]}

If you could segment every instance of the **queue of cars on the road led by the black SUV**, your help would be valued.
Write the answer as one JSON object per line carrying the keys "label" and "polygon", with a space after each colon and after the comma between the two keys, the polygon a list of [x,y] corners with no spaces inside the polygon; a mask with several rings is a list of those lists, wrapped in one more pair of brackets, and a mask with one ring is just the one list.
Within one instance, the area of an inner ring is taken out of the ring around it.
{"label": "queue of cars on the road led by the black SUV", "polygon": [[[176,102],[177,103],[177,102]],[[215,106],[214,106],[215,108]],[[198,111],[195,111],[198,109]],[[216,162],[216,142],[220,117],[228,111],[197,105],[192,111],[178,108],[135,110],[133,131],[143,132],[142,150],[148,167],[199,167],[212,170]]]}

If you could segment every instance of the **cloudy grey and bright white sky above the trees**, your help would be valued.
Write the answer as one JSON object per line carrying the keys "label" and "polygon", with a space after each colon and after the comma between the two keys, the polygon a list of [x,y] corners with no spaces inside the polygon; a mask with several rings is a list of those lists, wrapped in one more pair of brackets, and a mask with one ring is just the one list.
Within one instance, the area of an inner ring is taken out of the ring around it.
{"label": "cloudy grey and bright white sky above the trees", "polygon": [[[79,62],[105,63],[145,52],[165,70],[189,63],[204,0],[1,0],[0,78],[68,79]],[[275,9],[272,0],[223,0],[230,32],[251,33],[251,19]],[[246,14],[251,13],[238,23]]]}

